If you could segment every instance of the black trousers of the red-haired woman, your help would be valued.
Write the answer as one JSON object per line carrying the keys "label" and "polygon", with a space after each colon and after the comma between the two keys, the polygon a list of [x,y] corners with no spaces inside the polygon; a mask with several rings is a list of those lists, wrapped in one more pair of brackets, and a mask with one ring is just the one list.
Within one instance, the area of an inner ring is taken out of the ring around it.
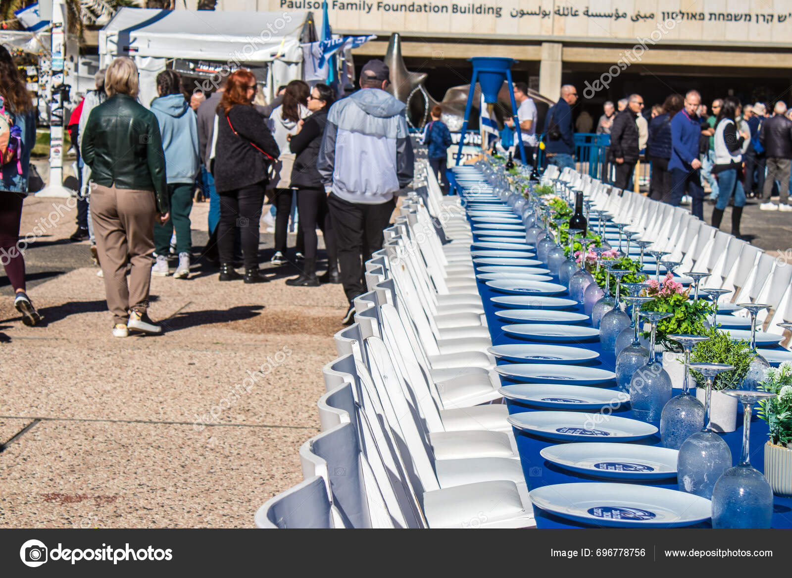
{"label": "black trousers of the red-haired woman", "polygon": [[220,262],[234,262],[234,236],[238,227],[242,238],[242,257],[246,269],[258,266],[258,226],[261,205],[264,204],[264,182],[242,189],[218,192],[220,196],[220,222],[217,244]]}

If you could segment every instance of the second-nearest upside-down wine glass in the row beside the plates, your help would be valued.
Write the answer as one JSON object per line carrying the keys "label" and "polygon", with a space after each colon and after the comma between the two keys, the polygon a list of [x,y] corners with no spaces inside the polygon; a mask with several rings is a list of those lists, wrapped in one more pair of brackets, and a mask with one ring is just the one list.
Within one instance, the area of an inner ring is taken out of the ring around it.
{"label": "second-nearest upside-down wine glass in the row beside the plates", "polygon": [[690,363],[706,380],[704,401],[704,429],[689,436],[676,457],[676,480],[680,492],[695,494],[710,500],[715,482],[732,467],[732,452],[721,436],[710,427],[710,397],[712,381],[718,373],[731,371],[734,366],[723,363]]}

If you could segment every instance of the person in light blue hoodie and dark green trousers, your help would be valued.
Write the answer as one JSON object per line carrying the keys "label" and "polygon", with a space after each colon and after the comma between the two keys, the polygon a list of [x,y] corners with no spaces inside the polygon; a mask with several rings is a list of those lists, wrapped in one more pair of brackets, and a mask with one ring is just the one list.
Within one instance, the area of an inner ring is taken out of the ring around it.
{"label": "person in light blue hoodie and dark green trousers", "polygon": [[175,71],[162,71],[157,75],[159,98],[151,101],[151,112],[157,117],[165,150],[166,179],[170,196],[170,220],[154,224],[154,253],[157,261],[151,274],[166,277],[170,274],[168,252],[170,237],[176,231],[176,248],[179,265],[173,277],[186,279],[190,272],[192,238],[190,235],[190,210],[192,189],[200,169],[198,156],[198,121],[181,92],[181,77]]}

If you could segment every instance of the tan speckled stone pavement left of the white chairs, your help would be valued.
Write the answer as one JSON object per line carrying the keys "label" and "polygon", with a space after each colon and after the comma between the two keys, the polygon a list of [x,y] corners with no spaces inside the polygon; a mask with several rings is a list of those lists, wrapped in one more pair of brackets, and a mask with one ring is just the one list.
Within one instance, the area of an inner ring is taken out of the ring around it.
{"label": "tan speckled stone pavement left of the white chairs", "polygon": [[[61,202],[29,197],[22,235]],[[199,248],[207,209],[193,209]],[[103,281],[62,212],[25,252],[44,327],[21,323],[0,276],[0,527],[253,526],[302,479],[341,285],[286,287],[291,266],[219,284],[197,265],[187,281],[153,278],[164,335],[114,339]]]}

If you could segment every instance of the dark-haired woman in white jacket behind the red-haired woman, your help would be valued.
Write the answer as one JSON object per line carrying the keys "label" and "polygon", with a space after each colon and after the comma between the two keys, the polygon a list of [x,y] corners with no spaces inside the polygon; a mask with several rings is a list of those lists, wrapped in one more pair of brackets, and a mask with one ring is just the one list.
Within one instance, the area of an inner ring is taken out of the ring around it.
{"label": "dark-haired woman in white jacket behind the red-haired woman", "polygon": [[310,114],[307,108],[308,94],[310,90],[306,82],[292,80],[286,85],[283,103],[272,110],[269,116],[272,136],[275,137],[275,142],[280,148],[280,156],[272,174],[272,204],[276,209],[275,255],[272,255],[272,262],[276,265],[282,265],[286,260],[291,197],[294,193],[291,185],[291,169],[294,167],[295,155],[289,151],[288,138],[297,132],[299,121]]}

